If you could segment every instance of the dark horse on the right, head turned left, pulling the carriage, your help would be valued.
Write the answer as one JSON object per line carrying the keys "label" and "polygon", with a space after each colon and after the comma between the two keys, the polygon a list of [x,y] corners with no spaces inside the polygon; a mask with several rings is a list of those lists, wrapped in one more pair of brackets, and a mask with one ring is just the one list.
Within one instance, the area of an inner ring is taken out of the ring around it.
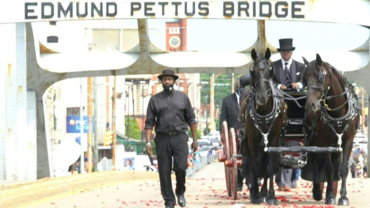
{"label": "dark horse on the right, head turned left, pulling the carriage", "polygon": [[[358,128],[359,109],[352,85],[319,54],[308,62],[305,112],[306,146],[336,147],[337,151],[308,153],[301,177],[313,181],[313,197],[322,199],[320,182],[327,181],[326,204],[335,204],[333,181],[342,179],[338,205],[348,205],[346,178],[352,142]],[[334,148],[335,149],[335,148]]]}

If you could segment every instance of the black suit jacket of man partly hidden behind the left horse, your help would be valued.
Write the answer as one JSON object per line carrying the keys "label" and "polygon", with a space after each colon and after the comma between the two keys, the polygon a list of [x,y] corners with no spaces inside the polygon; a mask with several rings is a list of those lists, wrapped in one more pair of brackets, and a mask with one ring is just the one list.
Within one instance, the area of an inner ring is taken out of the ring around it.
{"label": "black suit jacket of man partly hidden behind the left horse", "polygon": [[236,123],[239,117],[239,105],[236,98],[236,92],[227,95],[222,100],[221,116],[220,116],[220,132],[222,133],[222,122],[227,123],[227,132],[230,132],[230,128],[237,128]]}

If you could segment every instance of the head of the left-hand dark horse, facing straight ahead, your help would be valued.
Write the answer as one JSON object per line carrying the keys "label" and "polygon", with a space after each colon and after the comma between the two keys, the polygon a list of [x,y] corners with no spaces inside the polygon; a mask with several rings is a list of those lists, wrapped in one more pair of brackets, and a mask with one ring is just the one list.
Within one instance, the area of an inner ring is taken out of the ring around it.
{"label": "head of the left-hand dark horse, facing straight ahead", "polygon": [[252,79],[251,90],[255,92],[257,105],[263,106],[271,95],[273,65],[268,61],[271,51],[267,48],[264,56],[263,54],[257,56],[253,48],[251,55],[253,59],[253,64],[249,68]]}

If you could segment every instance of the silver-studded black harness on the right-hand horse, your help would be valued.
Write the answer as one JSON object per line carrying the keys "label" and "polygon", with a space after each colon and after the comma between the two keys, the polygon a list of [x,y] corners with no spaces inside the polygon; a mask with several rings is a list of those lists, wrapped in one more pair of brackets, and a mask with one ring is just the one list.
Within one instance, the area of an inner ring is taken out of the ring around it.
{"label": "silver-studded black harness on the right-hand horse", "polygon": [[[338,139],[336,145],[337,145],[337,148],[338,148],[339,152],[341,152],[342,151],[342,147],[341,147],[342,136],[343,136],[344,132],[346,130],[348,130],[348,128],[349,128],[349,122],[351,122],[359,114],[359,108],[357,106],[356,98],[354,96],[354,91],[353,91],[353,88],[352,88],[351,85],[349,85],[349,86],[347,85],[344,88],[344,91],[340,94],[335,94],[335,95],[328,96],[328,92],[329,92],[330,86],[332,84],[332,66],[328,63],[326,63],[325,66],[329,70],[329,76],[330,76],[330,82],[329,82],[329,85],[328,85],[328,88],[326,89],[326,91],[324,91],[324,85],[322,85],[322,86],[308,86],[307,87],[307,88],[317,89],[317,90],[321,91],[321,99],[319,101],[322,102],[323,105],[321,105],[321,107],[320,107],[320,112],[321,112],[320,117],[316,112],[314,113],[314,115],[313,115],[314,119],[313,119],[313,122],[312,122],[312,126],[309,126],[307,123],[305,123],[307,129],[312,131],[312,133],[311,133],[311,135],[308,139],[307,139],[307,133],[304,132],[305,141],[306,141],[305,145],[309,145],[313,136],[317,135],[316,125],[317,125],[318,120],[321,119],[321,121],[323,121],[325,124],[327,124],[333,130],[333,132],[336,134],[337,139]],[[324,83],[325,75],[326,75],[326,71],[320,71],[320,74],[319,74],[319,81],[320,82]],[[342,105],[340,105],[339,107],[337,107],[335,109],[330,109],[328,107],[328,105],[326,103],[326,100],[329,100],[331,98],[338,97],[338,96],[343,96],[343,95],[345,96],[346,101]],[[329,115],[330,111],[339,110],[339,109],[343,108],[346,104],[347,104],[347,107],[348,107],[348,111],[343,117],[333,118]],[[338,134],[337,131],[335,130],[338,127],[344,127],[340,134]]]}

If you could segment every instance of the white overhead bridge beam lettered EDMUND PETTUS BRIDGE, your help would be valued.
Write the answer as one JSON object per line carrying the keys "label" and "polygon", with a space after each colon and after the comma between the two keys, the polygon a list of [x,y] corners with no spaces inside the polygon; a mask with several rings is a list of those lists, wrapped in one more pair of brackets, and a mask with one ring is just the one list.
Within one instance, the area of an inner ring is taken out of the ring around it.
{"label": "white overhead bridge beam lettered EDMUND PETTUS BRIDGE", "polygon": [[0,1],[0,23],[100,19],[254,19],[370,26],[370,1]]}

